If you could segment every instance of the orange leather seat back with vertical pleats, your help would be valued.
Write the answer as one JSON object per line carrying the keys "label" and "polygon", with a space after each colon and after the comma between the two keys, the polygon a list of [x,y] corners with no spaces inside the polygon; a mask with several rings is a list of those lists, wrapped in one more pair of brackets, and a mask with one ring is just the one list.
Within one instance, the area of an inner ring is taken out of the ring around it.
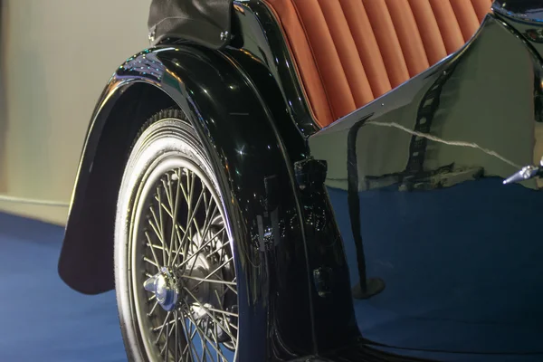
{"label": "orange leather seat back with vertical pleats", "polygon": [[458,50],[491,0],[265,0],[321,127]]}

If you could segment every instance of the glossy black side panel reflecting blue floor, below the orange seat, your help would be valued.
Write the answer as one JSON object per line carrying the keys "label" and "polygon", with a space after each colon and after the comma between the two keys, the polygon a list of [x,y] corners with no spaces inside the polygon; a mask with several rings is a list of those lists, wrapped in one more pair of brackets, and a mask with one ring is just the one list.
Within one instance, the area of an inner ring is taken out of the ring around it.
{"label": "glossy black side panel reflecting blue floor, below the orange seat", "polygon": [[351,286],[357,233],[364,272],[386,282],[354,301],[367,346],[440,361],[543,357],[543,244],[531,232],[541,183],[501,185],[543,155],[543,62],[518,29],[489,15],[462,50],[310,137],[310,155],[329,164]]}

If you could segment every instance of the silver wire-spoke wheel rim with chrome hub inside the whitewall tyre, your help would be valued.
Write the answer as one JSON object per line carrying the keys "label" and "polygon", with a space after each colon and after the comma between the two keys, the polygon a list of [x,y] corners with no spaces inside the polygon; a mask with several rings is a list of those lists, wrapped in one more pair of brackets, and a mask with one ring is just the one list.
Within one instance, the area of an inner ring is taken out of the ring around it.
{"label": "silver wire-spoke wheel rim with chrome hub inside the whitewall tyre", "polygon": [[235,359],[232,233],[214,176],[196,151],[152,160],[135,183],[127,213],[131,316],[139,350],[150,361]]}

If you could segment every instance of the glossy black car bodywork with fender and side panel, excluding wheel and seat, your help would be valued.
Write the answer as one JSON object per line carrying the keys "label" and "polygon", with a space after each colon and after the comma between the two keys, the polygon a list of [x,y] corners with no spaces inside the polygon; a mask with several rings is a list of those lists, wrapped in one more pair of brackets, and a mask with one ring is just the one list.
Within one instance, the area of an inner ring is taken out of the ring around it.
{"label": "glossy black car bodywork with fender and side panel, excluding wheel and seat", "polygon": [[176,14],[189,20],[162,28],[172,10],[155,8],[155,46],[98,102],[64,281],[114,288],[115,205],[138,119],[175,106],[220,155],[246,230],[251,342],[239,360],[543,358],[541,183],[502,184],[541,156],[540,2],[495,2],[461,50],[324,129],[265,4],[184,4]]}

